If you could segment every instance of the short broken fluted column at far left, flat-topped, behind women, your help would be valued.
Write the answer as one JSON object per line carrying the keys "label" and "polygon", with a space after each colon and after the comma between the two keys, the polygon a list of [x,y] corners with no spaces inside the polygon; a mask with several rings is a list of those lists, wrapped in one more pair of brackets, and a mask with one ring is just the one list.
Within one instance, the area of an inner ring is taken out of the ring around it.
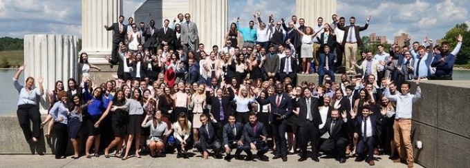
{"label": "short broken fluted column at far left, flat-topped, behind women", "polygon": [[[67,88],[68,78],[77,78],[77,36],[55,34],[26,34],[24,36],[24,78],[44,77],[44,92],[40,98],[39,112],[47,114],[46,90],[54,90],[55,81],[63,81]],[[26,80],[25,80],[26,81]],[[20,83],[24,85],[24,83]]]}

